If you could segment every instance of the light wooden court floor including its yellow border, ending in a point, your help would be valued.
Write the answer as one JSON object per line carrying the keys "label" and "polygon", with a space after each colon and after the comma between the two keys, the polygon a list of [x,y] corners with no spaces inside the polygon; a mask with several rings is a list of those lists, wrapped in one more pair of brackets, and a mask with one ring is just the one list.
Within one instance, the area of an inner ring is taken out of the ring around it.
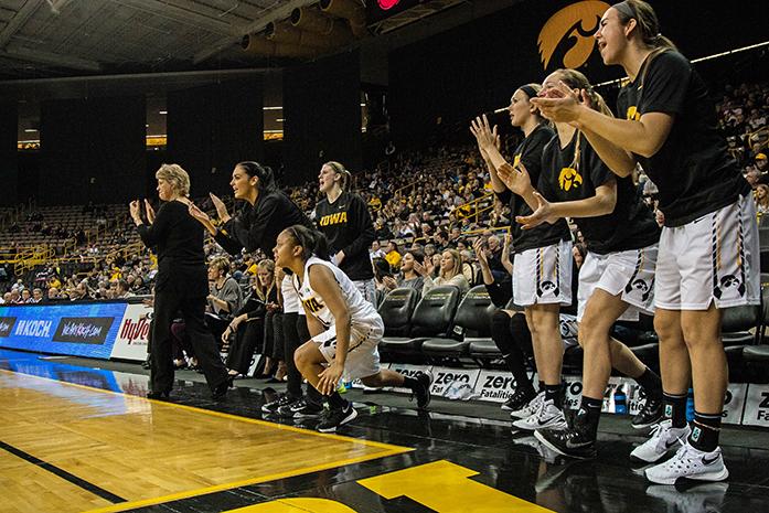
{"label": "light wooden court floor including its yellow border, ending in a point", "polygon": [[0,512],[122,511],[409,448],[0,371]]}

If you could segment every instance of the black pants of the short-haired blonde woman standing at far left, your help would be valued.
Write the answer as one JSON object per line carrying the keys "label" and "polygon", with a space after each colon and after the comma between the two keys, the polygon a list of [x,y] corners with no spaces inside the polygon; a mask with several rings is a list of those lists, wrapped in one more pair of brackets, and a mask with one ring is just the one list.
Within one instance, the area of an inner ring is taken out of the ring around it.
{"label": "black pants of the short-haired blonde woman standing at far left", "polygon": [[203,320],[205,298],[185,297],[171,288],[157,290],[154,293],[154,325],[150,353],[152,392],[168,392],[173,386],[171,322],[179,311],[184,319],[186,335],[197,357],[197,365],[213,391],[227,381],[227,367],[222,363],[216,341]]}

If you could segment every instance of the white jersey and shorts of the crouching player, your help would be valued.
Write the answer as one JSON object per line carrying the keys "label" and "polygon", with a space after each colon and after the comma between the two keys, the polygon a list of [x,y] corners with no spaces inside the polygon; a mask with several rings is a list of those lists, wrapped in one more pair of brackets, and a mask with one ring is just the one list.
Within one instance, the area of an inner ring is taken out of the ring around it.
{"label": "white jersey and shorts of the crouching player", "polygon": [[292,278],[293,287],[299,293],[302,304],[325,328],[324,332],[311,339],[312,342],[318,344],[320,352],[331,363],[337,353],[337,320],[323,299],[310,286],[310,267],[316,265],[324,266],[333,272],[350,311],[350,344],[344,362],[344,380],[353,381],[377,374],[380,372],[380,353],[376,346],[384,335],[382,318],[374,306],[363,299],[348,275],[330,261],[314,256],[305,264],[305,282],[300,284],[297,275]]}

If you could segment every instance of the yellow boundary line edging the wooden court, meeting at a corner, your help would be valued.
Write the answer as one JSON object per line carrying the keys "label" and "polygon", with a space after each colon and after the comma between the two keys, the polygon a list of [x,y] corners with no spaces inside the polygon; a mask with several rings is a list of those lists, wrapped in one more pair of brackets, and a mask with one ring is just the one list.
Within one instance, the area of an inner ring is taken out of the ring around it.
{"label": "yellow boundary line edging the wooden court, meeting at a corner", "polygon": [[163,495],[163,496],[153,498],[153,499],[142,499],[139,501],[121,502],[119,504],[115,504],[111,506],[100,507],[97,510],[90,510],[86,513],[118,512],[118,511],[125,511],[125,510],[128,510],[131,507],[141,507],[141,506],[146,506],[146,505],[160,504],[163,502],[174,501],[174,500],[179,500],[179,499],[188,499],[191,496],[203,495],[206,493],[217,492],[217,491],[222,491],[222,490],[229,490],[233,488],[246,487],[246,485],[250,485],[250,484],[258,484],[258,483],[263,483],[263,482],[274,481],[277,479],[285,479],[285,478],[290,478],[290,477],[295,477],[295,475],[318,472],[321,470],[333,469],[337,467],[344,467],[346,464],[360,463],[362,461],[385,458],[388,456],[399,455],[403,452],[409,452],[409,451],[415,450],[412,447],[394,446],[391,443],[382,443],[378,441],[344,437],[341,435],[317,432],[317,431],[312,431],[309,429],[298,428],[295,426],[286,426],[282,424],[269,423],[267,420],[258,420],[258,419],[248,418],[248,417],[239,417],[237,415],[225,414],[222,412],[212,412],[212,410],[207,410],[207,409],[203,409],[203,408],[197,408],[195,406],[180,405],[180,404],[175,404],[175,403],[168,403],[164,400],[148,399],[146,397],[141,397],[141,396],[137,396],[137,395],[125,394],[125,393],[114,392],[114,391],[105,391],[103,388],[96,388],[96,387],[87,386],[87,385],[79,385],[77,383],[62,382],[62,381],[52,380],[49,377],[35,376],[33,374],[18,373],[18,372],[7,371],[7,370],[2,370],[2,368],[0,368],[0,373],[7,373],[7,374],[17,375],[17,376],[30,377],[30,378],[42,380],[42,381],[50,381],[50,382],[54,382],[56,384],[67,385],[67,386],[76,387],[76,388],[83,388],[83,389],[89,391],[89,392],[100,392],[100,393],[105,393],[105,394],[121,395],[121,396],[131,397],[135,399],[148,400],[150,403],[154,403],[154,404],[160,405],[160,406],[172,406],[172,407],[177,407],[177,408],[181,408],[181,409],[186,409],[190,412],[211,415],[214,417],[221,417],[221,418],[226,418],[226,419],[232,419],[232,420],[239,420],[239,421],[245,421],[245,423],[249,423],[249,424],[256,424],[258,426],[268,427],[271,429],[284,429],[287,431],[299,432],[302,435],[312,435],[316,437],[328,438],[328,439],[352,442],[352,443],[360,443],[360,445],[364,445],[364,446],[369,446],[369,447],[375,447],[377,449],[383,449],[382,452],[374,452],[374,453],[359,456],[356,458],[349,458],[349,459],[344,459],[344,460],[330,461],[328,463],[321,463],[321,464],[317,464],[317,466],[305,467],[305,468],[299,468],[299,469],[295,469],[295,470],[288,470],[288,471],[278,472],[275,474],[263,475],[259,478],[246,479],[246,480],[241,480],[241,481],[233,481],[229,483],[222,483],[222,484],[216,484],[213,487],[188,490],[188,491],[172,493],[169,495]]}

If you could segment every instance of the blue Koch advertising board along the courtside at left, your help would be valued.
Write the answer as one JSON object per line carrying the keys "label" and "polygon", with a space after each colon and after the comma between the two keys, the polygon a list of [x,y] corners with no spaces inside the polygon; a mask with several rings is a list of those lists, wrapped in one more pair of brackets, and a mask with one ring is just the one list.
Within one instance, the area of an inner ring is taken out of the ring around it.
{"label": "blue Koch advertising board along the courtside at left", "polygon": [[0,307],[0,348],[108,360],[126,303]]}

